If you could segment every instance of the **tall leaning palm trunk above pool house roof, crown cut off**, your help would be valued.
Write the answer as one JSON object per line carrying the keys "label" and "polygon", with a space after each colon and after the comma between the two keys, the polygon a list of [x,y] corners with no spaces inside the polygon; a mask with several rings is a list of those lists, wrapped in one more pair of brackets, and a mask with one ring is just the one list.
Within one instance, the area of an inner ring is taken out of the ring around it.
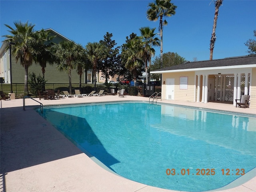
{"label": "tall leaning palm trunk above pool house roof, crown cut off", "polygon": [[212,54],[213,54],[213,48],[216,41],[216,26],[217,26],[217,19],[218,19],[218,13],[219,13],[219,7],[222,5],[223,0],[216,0],[214,2],[215,4],[215,13],[214,13],[214,20],[213,20],[213,26],[212,26],[212,37],[210,40],[210,60],[212,60]]}

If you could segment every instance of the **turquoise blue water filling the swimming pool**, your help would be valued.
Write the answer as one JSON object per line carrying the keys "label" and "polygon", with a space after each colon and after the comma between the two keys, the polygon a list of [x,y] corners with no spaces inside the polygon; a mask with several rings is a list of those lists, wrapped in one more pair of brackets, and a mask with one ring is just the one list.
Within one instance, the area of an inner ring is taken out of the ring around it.
{"label": "turquoise blue water filling the swimming pool", "polygon": [[252,116],[145,102],[49,107],[43,116],[117,174],[150,186],[212,190],[256,167]]}

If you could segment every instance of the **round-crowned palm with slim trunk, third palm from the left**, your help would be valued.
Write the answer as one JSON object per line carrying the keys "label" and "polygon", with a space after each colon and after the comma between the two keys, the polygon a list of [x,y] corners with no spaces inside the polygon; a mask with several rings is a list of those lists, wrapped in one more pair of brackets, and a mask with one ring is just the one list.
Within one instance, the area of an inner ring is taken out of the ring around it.
{"label": "round-crowned palm with slim trunk, third palm from the left", "polygon": [[63,41],[53,47],[58,70],[64,70],[69,76],[69,92],[72,94],[71,71],[84,57],[84,48],[73,41]]}

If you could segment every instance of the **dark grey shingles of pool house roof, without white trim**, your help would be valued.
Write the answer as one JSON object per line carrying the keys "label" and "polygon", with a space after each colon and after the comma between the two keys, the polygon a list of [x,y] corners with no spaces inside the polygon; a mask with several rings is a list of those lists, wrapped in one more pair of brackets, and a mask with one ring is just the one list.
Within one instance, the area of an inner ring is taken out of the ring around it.
{"label": "dark grey shingles of pool house roof, without white trim", "polygon": [[232,57],[232,58],[224,58],[224,59],[216,59],[216,60],[195,61],[195,62],[182,63],[179,65],[162,68],[157,71],[250,65],[250,64],[256,64],[256,56],[240,56],[240,57]]}

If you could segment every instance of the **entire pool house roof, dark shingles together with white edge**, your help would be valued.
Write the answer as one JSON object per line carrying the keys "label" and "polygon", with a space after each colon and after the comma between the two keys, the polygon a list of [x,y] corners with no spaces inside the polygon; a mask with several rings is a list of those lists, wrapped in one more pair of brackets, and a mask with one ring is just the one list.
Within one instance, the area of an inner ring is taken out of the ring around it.
{"label": "entire pool house roof, dark shingles together with white edge", "polygon": [[[239,57],[231,57],[224,59],[216,59],[216,60],[205,60],[205,61],[195,61],[195,62],[186,62],[179,65],[174,65],[166,68],[162,68],[157,71],[152,71],[152,73],[162,73],[167,71],[192,71],[192,70],[202,70],[211,69],[211,68],[234,68],[234,66],[243,66],[243,67],[256,67],[256,56],[239,56]],[[254,66],[255,65],[255,66]]]}

